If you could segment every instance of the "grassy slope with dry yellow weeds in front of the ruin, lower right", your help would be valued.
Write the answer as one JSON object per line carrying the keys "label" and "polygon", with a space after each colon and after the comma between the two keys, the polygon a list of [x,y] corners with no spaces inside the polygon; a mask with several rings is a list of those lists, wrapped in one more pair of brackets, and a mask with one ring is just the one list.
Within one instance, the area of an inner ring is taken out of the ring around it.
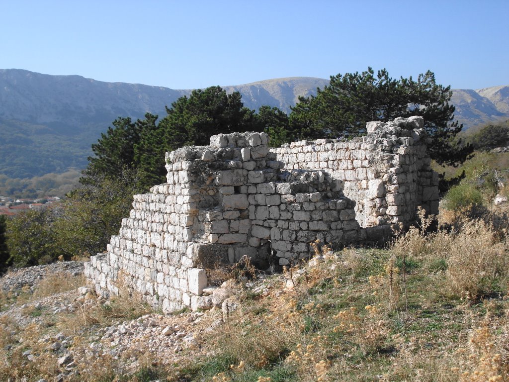
{"label": "grassy slope with dry yellow weeds in front of the ruin, lower right", "polygon": [[506,239],[482,220],[431,224],[388,251],[289,270],[205,339],[213,357],[172,380],[509,381]]}

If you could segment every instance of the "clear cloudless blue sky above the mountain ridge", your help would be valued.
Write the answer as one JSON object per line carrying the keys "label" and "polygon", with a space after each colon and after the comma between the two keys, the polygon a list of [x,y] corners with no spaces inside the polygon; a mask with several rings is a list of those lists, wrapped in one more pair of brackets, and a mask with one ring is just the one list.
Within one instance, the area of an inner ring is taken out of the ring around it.
{"label": "clear cloudless blue sky above the mountain ridge", "polygon": [[509,1],[0,0],[0,69],[173,89],[387,68],[509,84]]}

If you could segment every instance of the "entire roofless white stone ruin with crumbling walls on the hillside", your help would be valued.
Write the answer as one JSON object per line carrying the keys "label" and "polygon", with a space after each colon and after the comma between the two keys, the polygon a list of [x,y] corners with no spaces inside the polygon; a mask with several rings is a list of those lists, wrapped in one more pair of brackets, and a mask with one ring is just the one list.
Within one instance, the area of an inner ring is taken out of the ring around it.
{"label": "entire roofless white stone ruin with crumbling walls on the hillside", "polygon": [[265,133],[219,134],[209,146],[166,153],[167,183],[135,195],[130,216],[86,276],[98,294],[119,286],[165,312],[210,306],[207,268],[241,257],[287,265],[310,242],[348,245],[408,227],[417,206],[438,213],[438,176],[420,117],[348,142],[270,149]]}

